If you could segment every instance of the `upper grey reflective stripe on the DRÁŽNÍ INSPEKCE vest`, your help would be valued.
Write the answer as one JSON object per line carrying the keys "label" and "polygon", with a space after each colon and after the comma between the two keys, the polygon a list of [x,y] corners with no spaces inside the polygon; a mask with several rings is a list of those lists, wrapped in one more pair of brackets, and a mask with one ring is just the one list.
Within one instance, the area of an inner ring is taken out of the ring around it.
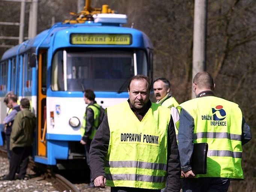
{"label": "upper grey reflective stripe on the DR\u00c1\u017dN\u00cd INSPEKCE vest", "polygon": [[230,140],[242,140],[242,135],[231,134],[227,132],[198,132],[193,134],[193,139],[197,138],[228,138]]}

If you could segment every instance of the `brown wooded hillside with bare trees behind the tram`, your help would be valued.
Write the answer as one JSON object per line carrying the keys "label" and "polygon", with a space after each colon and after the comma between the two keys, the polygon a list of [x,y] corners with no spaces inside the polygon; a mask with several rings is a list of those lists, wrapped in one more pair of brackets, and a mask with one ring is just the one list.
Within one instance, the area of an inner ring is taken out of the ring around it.
{"label": "brown wooded hillside with bare trees behind the tram", "polygon": [[[128,16],[127,27],[142,30],[154,45],[154,77],[170,80],[179,103],[191,98],[193,0],[91,0]],[[39,0],[38,33],[77,12],[77,0]],[[19,22],[20,3],[0,1],[0,21]],[[25,36],[29,20],[26,5]],[[208,0],[206,71],[215,80],[215,95],[238,103],[253,139],[243,147],[244,181],[231,182],[229,192],[256,191],[256,1]],[[18,36],[18,26],[0,25],[0,36]],[[17,45],[17,40],[0,44]],[[5,48],[0,48],[2,57]]]}

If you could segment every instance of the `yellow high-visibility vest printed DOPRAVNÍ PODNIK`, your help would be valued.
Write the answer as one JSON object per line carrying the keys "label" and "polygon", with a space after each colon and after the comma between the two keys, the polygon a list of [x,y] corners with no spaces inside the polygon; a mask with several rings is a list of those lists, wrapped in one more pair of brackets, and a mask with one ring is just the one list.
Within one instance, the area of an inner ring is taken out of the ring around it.
{"label": "yellow high-visibility vest printed DOPRAVN\u00cd PODNIK", "polygon": [[107,108],[107,186],[162,189],[166,183],[170,109],[152,103],[142,121],[127,101]]}

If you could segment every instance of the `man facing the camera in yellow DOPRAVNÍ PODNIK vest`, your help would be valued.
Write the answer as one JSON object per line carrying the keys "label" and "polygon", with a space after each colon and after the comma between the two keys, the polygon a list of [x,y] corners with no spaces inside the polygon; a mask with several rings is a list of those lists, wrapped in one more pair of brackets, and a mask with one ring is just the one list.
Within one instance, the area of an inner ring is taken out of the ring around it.
{"label": "man facing the camera in yellow DOPRAVN\u00cd PODNIK vest", "polygon": [[180,162],[170,110],[149,100],[149,77],[136,75],[128,101],[108,107],[90,147],[95,186],[111,192],[180,191]]}

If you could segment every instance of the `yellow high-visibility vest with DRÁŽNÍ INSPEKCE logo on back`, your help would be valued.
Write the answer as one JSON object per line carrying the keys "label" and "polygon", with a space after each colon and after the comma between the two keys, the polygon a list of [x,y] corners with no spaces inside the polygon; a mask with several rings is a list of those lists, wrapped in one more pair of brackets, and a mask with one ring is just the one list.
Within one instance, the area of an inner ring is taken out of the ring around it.
{"label": "yellow high-visibility vest with DR\u00c1\u017dN\u00cd INSPEKCE logo on back", "polygon": [[180,107],[194,119],[193,143],[208,143],[207,173],[196,177],[243,179],[242,112],[238,104],[207,96]]}

